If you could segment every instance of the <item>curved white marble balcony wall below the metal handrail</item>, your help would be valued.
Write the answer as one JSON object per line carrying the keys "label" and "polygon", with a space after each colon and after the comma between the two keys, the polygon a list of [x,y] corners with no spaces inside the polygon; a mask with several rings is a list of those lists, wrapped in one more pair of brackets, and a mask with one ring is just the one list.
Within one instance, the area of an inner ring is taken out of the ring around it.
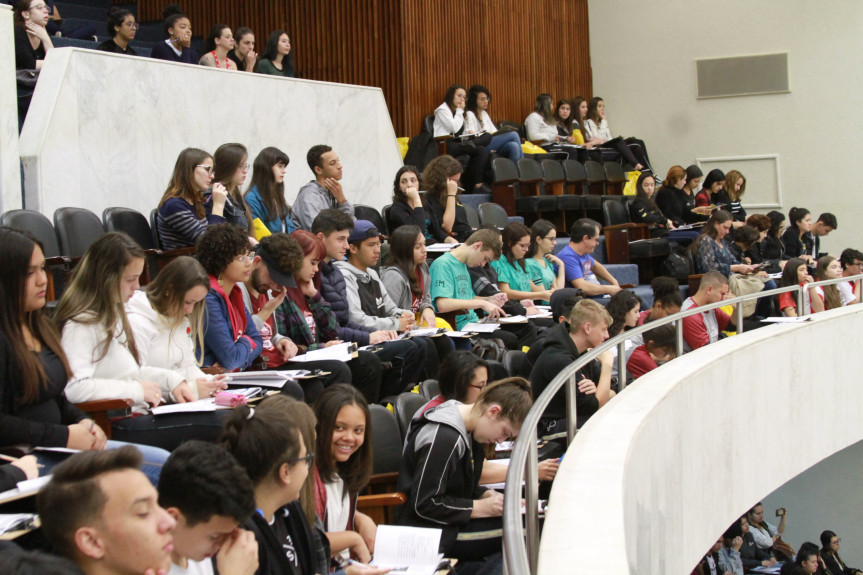
{"label": "curved white marble balcony wall below the metal handrail", "polygon": [[861,324],[852,306],[766,326],[629,386],[564,458],[538,572],[691,572],[754,503],[863,439]]}

